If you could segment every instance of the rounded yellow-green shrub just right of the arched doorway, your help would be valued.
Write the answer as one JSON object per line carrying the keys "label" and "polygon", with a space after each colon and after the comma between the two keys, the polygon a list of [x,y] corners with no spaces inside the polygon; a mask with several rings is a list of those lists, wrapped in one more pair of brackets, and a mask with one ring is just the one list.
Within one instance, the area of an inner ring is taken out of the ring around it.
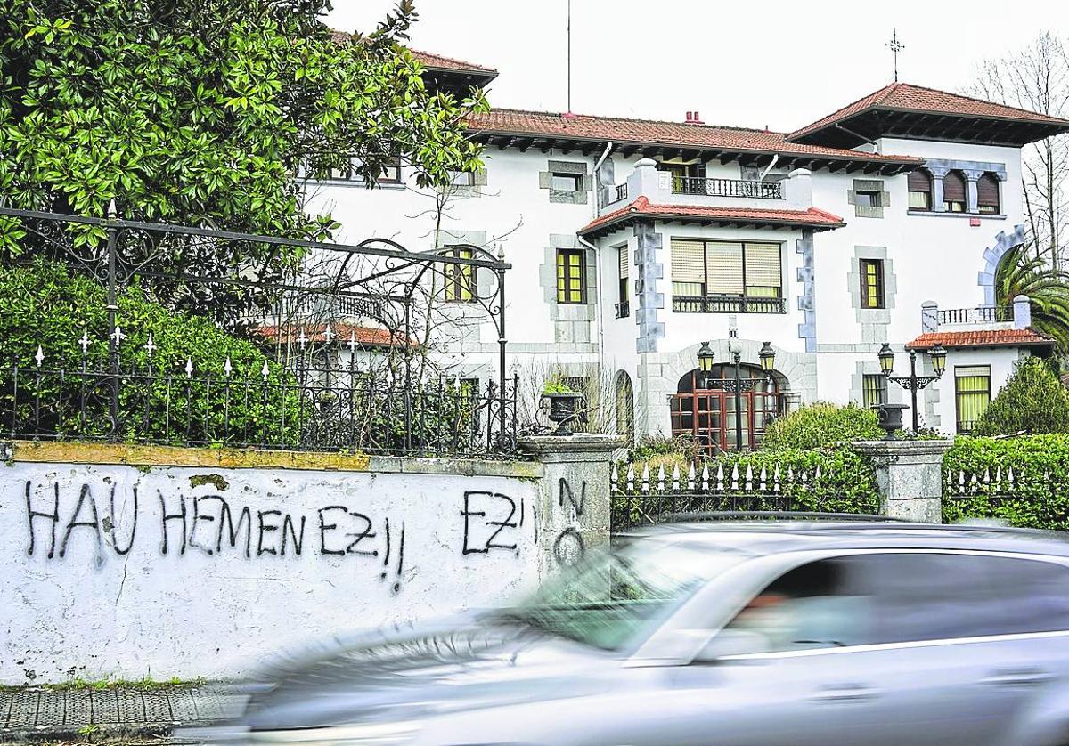
{"label": "rounded yellow-green shrub just right of the arched doorway", "polygon": [[853,404],[817,402],[775,420],[764,432],[761,446],[770,450],[807,450],[843,440],[872,440],[883,435],[874,411]]}

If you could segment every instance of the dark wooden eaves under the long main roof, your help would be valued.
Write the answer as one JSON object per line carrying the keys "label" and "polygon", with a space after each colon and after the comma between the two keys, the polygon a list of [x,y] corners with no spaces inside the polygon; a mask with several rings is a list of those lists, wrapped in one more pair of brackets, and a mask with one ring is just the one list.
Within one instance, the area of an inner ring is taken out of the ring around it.
{"label": "dark wooden eaves under the long main roof", "polygon": [[[601,151],[605,147],[605,138],[586,138],[564,135],[547,135],[538,133],[517,133],[493,129],[469,129],[468,137],[477,142],[485,144],[487,147],[497,147],[499,151],[516,149],[521,153],[528,150],[537,150],[548,153],[551,150],[559,151],[563,155],[579,152],[585,156]],[[827,170],[832,173],[842,171],[845,173],[879,174],[883,176],[894,176],[899,173],[915,171],[924,166],[923,158],[910,158],[905,156],[890,156],[881,158],[872,154],[858,153],[856,157],[843,154],[806,154],[787,153],[776,150],[747,150],[738,147],[703,147],[696,145],[680,145],[670,142],[640,142],[634,140],[620,140],[610,138],[615,146],[615,152],[625,158],[639,155],[655,160],[671,160],[682,158],[684,160],[700,160],[708,164],[718,160],[723,165],[738,161],[741,166],[768,164],[772,156],[778,156],[776,165],[786,169],[805,168],[810,171]]]}

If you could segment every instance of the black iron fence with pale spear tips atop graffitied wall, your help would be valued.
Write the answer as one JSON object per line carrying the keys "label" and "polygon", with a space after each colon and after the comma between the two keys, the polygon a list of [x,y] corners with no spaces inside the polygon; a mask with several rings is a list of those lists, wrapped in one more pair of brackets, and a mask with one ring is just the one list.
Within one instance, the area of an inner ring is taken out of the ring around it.
{"label": "black iron fence with pale spear tips atop graffitied wall", "polygon": [[[0,368],[0,433],[32,440],[89,440],[188,447],[360,451],[387,455],[492,457],[515,450],[515,378],[422,376],[397,367],[325,360],[311,352],[292,366],[216,370],[192,359],[153,357],[115,370],[84,353],[50,363]],[[372,361],[375,362],[375,361]]]}

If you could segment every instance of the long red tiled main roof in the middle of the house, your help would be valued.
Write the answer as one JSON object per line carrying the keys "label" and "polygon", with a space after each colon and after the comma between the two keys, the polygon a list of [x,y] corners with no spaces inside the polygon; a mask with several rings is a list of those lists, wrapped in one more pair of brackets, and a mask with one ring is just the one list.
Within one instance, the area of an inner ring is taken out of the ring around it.
{"label": "long red tiled main roof in the middle of the house", "polygon": [[477,133],[500,135],[553,136],[594,141],[611,140],[653,145],[682,145],[703,150],[731,150],[754,153],[783,153],[785,155],[827,156],[852,160],[920,165],[919,158],[901,155],[879,155],[839,147],[804,145],[788,142],[783,133],[743,127],[723,127],[682,122],[619,119],[563,114],[548,111],[521,109],[493,109],[484,114],[468,118],[468,128]]}

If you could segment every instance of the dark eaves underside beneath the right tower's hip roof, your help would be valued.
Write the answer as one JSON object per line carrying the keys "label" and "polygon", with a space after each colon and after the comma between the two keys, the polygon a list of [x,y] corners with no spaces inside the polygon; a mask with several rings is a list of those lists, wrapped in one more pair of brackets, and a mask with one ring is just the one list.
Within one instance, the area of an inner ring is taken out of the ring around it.
{"label": "dark eaves underside beneath the right tower's hip roof", "polygon": [[1066,131],[1069,125],[1055,122],[881,106],[863,109],[810,130],[792,133],[787,139],[828,147],[856,147],[879,138],[1021,147]]}

